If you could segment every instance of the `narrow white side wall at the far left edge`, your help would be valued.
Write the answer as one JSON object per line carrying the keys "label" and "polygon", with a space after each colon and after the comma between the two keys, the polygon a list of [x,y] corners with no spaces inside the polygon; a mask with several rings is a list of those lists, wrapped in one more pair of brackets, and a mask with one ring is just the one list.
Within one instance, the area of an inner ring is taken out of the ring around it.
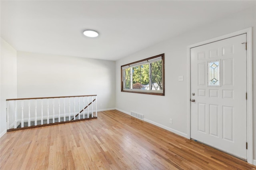
{"label": "narrow white side wall at the far left edge", "polygon": [[17,51],[1,38],[0,137],[6,133],[6,99],[17,97]]}

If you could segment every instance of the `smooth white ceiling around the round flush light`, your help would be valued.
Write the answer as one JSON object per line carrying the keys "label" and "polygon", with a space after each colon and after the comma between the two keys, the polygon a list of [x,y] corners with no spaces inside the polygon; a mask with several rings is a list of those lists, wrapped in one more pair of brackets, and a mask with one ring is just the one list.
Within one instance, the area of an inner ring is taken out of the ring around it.
{"label": "smooth white ceiling around the round flush light", "polygon": [[[2,1],[1,37],[18,51],[117,60],[255,1]],[[98,38],[82,32],[94,29]]]}

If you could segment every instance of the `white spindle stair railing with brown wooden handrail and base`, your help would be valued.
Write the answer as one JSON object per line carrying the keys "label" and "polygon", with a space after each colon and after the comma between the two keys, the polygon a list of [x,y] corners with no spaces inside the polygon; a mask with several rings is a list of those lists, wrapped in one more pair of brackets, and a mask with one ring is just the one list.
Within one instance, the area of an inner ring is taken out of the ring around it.
{"label": "white spindle stair railing with brown wooden handrail and base", "polygon": [[97,95],[6,99],[7,131],[94,118]]}

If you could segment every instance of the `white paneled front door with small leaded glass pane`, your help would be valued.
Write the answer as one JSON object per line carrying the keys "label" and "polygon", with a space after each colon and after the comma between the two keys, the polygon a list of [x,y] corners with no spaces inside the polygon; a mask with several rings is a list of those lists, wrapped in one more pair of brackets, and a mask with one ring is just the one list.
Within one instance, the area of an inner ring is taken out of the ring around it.
{"label": "white paneled front door with small leaded glass pane", "polygon": [[191,138],[247,159],[246,34],[191,48]]}

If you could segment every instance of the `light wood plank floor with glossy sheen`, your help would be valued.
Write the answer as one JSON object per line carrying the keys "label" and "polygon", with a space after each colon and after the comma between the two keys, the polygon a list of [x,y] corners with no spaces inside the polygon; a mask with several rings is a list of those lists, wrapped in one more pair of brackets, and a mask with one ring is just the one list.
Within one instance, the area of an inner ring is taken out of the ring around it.
{"label": "light wood plank floor with glossy sheen", "polygon": [[98,119],[7,132],[0,170],[256,169],[119,111]]}

